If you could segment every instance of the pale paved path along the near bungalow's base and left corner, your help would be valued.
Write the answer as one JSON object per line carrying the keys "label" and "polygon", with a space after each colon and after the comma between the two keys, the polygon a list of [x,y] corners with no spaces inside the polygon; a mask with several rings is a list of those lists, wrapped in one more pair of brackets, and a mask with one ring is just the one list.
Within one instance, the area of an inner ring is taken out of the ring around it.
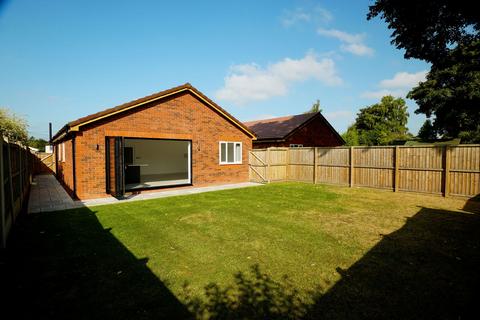
{"label": "pale paved path along the near bungalow's base and left corner", "polygon": [[63,189],[60,183],[53,175],[38,175],[33,179],[30,199],[28,202],[28,213],[58,211],[80,207],[93,207],[104,204],[121,203],[128,201],[149,200],[165,198],[179,195],[195,194],[210,191],[219,191],[227,189],[236,189],[244,187],[261,186],[260,183],[243,182],[224,184],[211,187],[187,187],[182,189],[168,190],[164,189],[158,192],[140,193],[127,196],[125,199],[118,200],[114,197],[74,201]]}

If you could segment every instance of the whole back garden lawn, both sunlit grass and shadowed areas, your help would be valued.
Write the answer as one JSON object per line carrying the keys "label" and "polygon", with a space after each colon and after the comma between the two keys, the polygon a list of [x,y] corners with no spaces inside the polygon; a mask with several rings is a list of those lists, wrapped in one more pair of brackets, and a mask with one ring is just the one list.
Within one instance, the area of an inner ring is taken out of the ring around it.
{"label": "whole back garden lawn, both sunlit grass and shadowed areas", "polygon": [[458,319],[478,305],[479,207],[281,183],[43,213],[0,271],[37,318]]}

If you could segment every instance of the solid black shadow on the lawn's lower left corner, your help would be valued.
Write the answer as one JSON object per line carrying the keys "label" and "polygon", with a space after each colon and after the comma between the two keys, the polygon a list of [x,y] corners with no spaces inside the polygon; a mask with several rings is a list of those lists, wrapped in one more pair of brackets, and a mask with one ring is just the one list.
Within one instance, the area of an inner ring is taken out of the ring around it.
{"label": "solid black shadow on the lawn's lower left corner", "polygon": [[137,259],[90,209],[23,219],[0,270],[15,318],[191,318],[146,266],[148,258]]}

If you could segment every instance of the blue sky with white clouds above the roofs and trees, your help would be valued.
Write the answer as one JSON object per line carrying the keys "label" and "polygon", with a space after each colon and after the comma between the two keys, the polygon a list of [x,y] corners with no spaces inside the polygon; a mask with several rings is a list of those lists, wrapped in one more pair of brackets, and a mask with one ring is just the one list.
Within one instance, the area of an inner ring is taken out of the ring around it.
{"label": "blue sky with white clouds above the roofs and trees", "polygon": [[[372,1],[0,0],[0,106],[48,136],[66,122],[190,82],[242,121],[320,99],[339,131],[429,66],[405,60]],[[409,128],[425,117],[407,101]]]}

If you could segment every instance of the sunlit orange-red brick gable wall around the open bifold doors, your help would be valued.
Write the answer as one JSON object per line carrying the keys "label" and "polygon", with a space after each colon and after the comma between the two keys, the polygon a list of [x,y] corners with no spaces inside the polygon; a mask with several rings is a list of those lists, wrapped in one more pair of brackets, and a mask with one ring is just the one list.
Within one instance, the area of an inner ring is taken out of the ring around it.
{"label": "sunlit orange-red brick gable wall around the open bifold doors", "polygon": [[[82,128],[76,137],[77,196],[80,199],[107,196],[105,136],[192,140],[194,186],[248,181],[251,138],[185,92]],[[242,142],[242,164],[220,165],[219,141]]]}

